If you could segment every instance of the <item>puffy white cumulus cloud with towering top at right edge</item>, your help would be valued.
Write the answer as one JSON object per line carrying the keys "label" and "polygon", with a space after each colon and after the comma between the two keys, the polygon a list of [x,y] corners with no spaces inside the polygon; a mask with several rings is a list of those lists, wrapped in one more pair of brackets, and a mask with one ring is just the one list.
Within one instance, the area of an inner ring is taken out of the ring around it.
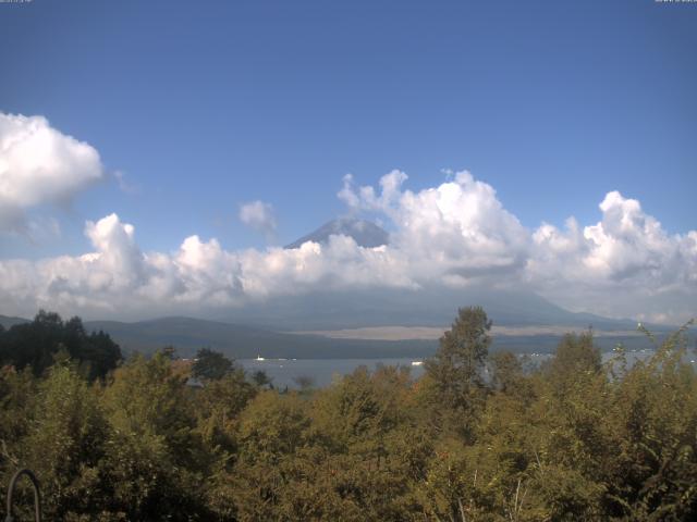
{"label": "puffy white cumulus cloud with towering top at right edge", "polygon": [[697,232],[669,235],[639,201],[608,192],[602,219],[533,234],[526,277],[555,302],[600,314],[657,322],[697,313]]}

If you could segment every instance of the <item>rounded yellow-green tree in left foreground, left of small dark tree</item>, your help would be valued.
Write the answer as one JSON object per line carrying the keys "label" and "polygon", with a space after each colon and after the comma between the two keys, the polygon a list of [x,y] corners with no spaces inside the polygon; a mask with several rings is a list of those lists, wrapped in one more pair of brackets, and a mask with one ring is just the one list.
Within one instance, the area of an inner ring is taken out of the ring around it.
{"label": "rounded yellow-green tree in left foreground, left of small dark tree", "polygon": [[208,459],[185,383],[166,353],[134,356],[102,395],[113,431],[102,469],[125,520],[210,520],[200,492]]}

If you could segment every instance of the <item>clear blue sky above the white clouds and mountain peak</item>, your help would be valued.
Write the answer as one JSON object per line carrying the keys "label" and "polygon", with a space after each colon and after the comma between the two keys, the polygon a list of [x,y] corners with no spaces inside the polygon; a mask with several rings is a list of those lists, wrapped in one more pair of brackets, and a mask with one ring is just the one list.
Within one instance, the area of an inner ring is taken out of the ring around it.
{"label": "clear blue sky above the white clouds and mountain peak", "polygon": [[[697,225],[697,4],[632,1],[0,4],[0,112],[96,149],[102,182],[0,235],[2,258],[91,249],[115,212],[143,251],[264,248],[346,212],[342,177],[419,191],[468,170],[529,231],[600,221],[619,190],[669,234]],[[114,181],[119,171],[131,189]]]}

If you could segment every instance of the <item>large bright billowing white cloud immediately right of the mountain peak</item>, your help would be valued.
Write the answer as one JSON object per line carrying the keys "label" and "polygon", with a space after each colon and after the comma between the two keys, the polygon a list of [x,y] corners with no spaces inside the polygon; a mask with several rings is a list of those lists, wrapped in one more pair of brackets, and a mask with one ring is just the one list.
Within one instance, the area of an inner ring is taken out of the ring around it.
{"label": "large bright billowing white cloud immediately right of the mountain peak", "polygon": [[377,194],[370,186],[355,189],[353,179],[344,177],[340,197],[392,221],[391,247],[408,259],[413,276],[466,283],[516,275],[523,268],[528,234],[490,185],[463,171],[451,182],[412,192],[402,190],[406,179],[392,171],[380,179]]}

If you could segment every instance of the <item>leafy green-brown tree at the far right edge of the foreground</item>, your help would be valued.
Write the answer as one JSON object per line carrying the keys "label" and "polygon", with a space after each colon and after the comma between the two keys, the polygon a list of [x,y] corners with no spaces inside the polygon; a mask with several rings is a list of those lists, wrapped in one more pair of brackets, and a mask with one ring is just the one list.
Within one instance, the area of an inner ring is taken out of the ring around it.
{"label": "leafy green-brown tree at the far right edge of the foreground", "polygon": [[601,468],[608,512],[622,520],[697,520],[697,374],[687,323],[611,383]]}

